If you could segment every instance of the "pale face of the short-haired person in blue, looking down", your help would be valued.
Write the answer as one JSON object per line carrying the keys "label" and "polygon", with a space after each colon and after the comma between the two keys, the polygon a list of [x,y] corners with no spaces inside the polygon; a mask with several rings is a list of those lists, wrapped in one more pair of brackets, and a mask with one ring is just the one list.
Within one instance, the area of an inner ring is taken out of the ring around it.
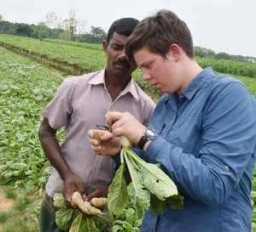
{"label": "pale face of the short-haired person in blue, looking down", "polygon": [[181,83],[176,63],[160,54],[154,54],[148,48],[141,48],[133,54],[137,66],[143,71],[143,81],[150,82],[162,93],[179,92]]}

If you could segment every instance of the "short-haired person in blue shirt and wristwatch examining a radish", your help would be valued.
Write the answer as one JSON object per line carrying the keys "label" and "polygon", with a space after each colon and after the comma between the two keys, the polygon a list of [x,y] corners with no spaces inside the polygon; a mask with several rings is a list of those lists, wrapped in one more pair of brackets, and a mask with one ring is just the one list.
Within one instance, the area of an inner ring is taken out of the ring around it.
{"label": "short-haired person in blue shirt and wristwatch examining a radish", "polygon": [[141,232],[249,232],[256,155],[256,104],[238,80],[202,69],[195,61],[187,25],[168,10],[142,20],[126,43],[126,54],[143,80],[166,93],[148,128],[129,113],[108,112],[112,133],[102,145],[89,131],[92,150],[119,152],[125,135],[138,156],[160,163],[183,195],[183,209],[146,212]]}

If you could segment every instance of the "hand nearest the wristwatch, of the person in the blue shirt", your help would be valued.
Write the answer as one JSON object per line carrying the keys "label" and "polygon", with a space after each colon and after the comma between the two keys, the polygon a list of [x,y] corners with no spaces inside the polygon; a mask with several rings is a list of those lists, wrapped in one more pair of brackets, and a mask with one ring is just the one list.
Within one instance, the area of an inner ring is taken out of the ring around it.
{"label": "hand nearest the wristwatch, of the person in the blue shirt", "polygon": [[108,111],[106,124],[111,128],[113,136],[125,135],[133,144],[138,144],[146,128],[128,112]]}

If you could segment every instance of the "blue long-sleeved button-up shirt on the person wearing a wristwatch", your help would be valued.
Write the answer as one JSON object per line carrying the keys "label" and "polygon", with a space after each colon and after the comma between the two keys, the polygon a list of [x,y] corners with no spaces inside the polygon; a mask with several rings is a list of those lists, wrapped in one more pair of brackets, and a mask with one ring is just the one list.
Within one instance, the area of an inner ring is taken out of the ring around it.
{"label": "blue long-sleeved button-up shirt on the person wearing a wristwatch", "polygon": [[207,68],[179,96],[160,99],[149,127],[159,136],[138,155],[160,163],[184,201],[181,210],[146,212],[140,231],[251,231],[256,104],[248,89]]}

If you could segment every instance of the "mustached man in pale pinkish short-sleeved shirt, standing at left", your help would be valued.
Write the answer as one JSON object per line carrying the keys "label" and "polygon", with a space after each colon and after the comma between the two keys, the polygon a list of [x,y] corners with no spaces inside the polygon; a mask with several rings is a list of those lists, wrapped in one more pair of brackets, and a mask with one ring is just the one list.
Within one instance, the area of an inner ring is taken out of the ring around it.
{"label": "mustached man in pale pinkish short-sleeved shirt, standing at left", "polygon": [[[87,197],[107,196],[114,176],[114,162],[109,157],[96,156],[90,150],[87,131],[96,123],[105,122],[109,111],[128,111],[145,126],[154,110],[154,102],[133,81],[137,68],[125,55],[125,42],[138,20],[116,20],[102,42],[107,55],[107,67],[84,76],[66,78],[41,113],[44,116],[38,136],[44,153],[54,167],[46,184],[42,202],[40,231],[62,231],[55,224],[53,196],[62,193],[67,207],[72,207],[71,195],[79,191]],[[56,132],[66,127],[62,144]]]}

